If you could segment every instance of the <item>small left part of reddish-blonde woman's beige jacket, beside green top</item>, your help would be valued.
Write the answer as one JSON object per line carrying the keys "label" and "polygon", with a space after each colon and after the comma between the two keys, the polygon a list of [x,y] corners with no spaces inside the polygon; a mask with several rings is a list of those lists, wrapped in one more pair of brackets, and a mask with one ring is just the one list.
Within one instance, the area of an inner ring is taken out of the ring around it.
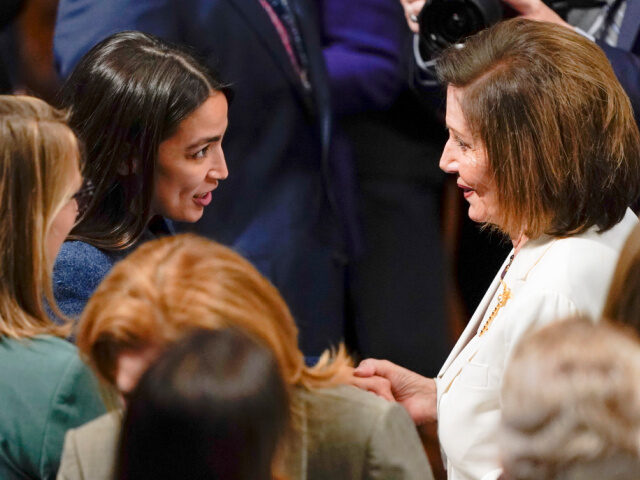
{"label": "small left part of reddish-blonde woman's beige jacket, beside green top", "polygon": [[58,478],[107,480],[113,465],[122,419],[110,412],[67,432]]}

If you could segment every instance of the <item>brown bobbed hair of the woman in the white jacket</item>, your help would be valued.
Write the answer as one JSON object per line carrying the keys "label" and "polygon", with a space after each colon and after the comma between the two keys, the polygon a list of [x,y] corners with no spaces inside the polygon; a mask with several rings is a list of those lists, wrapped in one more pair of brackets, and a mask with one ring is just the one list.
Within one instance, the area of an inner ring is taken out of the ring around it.
{"label": "brown bobbed hair of the woman in the white jacket", "polygon": [[640,194],[631,103],[592,41],[516,18],[451,47],[437,64],[485,147],[500,230],[566,236],[618,223]]}

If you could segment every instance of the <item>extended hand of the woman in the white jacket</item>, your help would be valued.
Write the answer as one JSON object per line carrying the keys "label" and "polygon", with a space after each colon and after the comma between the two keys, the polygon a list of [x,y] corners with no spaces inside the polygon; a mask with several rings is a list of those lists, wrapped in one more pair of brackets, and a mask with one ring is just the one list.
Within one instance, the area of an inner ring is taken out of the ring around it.
{"label": "extended hand of the woman in the white jacket", "polygon": [[436,382],[387,360],[369,358],[353,371],[351,383],[400,403],[416,425],[435,422]]}

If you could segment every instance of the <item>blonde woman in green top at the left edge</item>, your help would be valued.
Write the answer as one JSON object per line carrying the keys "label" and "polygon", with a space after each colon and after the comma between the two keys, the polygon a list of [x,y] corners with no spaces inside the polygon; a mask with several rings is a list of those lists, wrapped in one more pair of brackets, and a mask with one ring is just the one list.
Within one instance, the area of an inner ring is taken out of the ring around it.
{"label": "blonde woman in green top at the left edge", "polygon": [[104,412],[98,385],[56,325],[51,270],[82,193],[64,112],[0,96],[0,478],[53,479],[67,429]]}

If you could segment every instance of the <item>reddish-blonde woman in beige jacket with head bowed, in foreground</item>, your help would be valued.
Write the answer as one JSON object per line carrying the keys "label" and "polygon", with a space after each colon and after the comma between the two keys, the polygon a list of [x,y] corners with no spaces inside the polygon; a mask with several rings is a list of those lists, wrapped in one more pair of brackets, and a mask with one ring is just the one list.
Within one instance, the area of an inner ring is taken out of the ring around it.
{"label": "reddish-blonde woman in beige jacket with head bowed, in foreground", "polygon": [[[198,328],[233,327],[275,357],[290,390],[292,434],[275,474],[289,479],[432,478],[406,411],[345,385],[343,347],[307,367],[284,300],[248,261],[193,235],[151,241],[118,263],[80,320],[78,347],[126,398],[149,364]],[[59,478],[111,479],[120,417],[105,415],[66,438]]]}

